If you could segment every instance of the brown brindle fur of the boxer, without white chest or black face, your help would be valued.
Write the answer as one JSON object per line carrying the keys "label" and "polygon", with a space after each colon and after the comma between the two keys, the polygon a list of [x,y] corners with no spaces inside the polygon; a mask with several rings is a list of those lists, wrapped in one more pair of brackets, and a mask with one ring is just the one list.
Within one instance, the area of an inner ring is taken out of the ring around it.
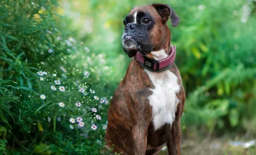
{"label": "brown brindle fur of the boxer, without white chest or black face", "polygon": [[[161,17],[152,5],[135,7],[130,11],[147,11],[153,15],[156,24],[151,30],[151,40],[155,50],[170,49],[170,30],[160,22]],[[163,28],[161,28],[163,27]],[[161,38],[162,36],[163,38]],[[147,55],[150,57],[150,54]],[[181,75],[175,63],[169,69],[178,78],[181,90],[177,93],[179,103],[175,112],[173,124],[165,124],[155,130],[152,117],[152,107],[148,97],[154,89],[149,76],[137,60],[132,60],[125,78],[119,84],[108,113],[106,142],[113,152],[122,154],[157,154],[162,146],[167,145],[169,154],[181,154],[181,115],[185,104],[185,91]]]}

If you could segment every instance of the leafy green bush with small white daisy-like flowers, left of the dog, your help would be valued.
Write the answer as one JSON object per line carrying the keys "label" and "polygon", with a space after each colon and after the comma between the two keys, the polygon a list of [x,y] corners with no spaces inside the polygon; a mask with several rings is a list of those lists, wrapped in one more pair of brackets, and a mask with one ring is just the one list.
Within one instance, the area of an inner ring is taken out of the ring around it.
{"label": "leafy green bush with small white daisy-like flowers, left of the dog", "polygon": [[55,26],[57,6],[55,0],[0,2],[5,154],[107,154],[101,150],[111,68],[103,54],[90,55]]}

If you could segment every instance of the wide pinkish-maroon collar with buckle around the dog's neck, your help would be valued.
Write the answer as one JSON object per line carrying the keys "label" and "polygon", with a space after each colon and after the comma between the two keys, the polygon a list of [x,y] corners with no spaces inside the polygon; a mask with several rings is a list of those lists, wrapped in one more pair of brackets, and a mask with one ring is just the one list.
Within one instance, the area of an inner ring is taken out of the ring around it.
{"label": "wide pinkish-maroon collar with buckle around the dog's neck", "polygon": [[168,70],[171,67],[171,64],[174,62],[175,55],[176,55],[176,47],[171,46],[170,54],[165,59],[162,59],[159,61],[154,59],[149,59],[145,55],[140,54],[139,52],[137,52],[134,58],[146,70],[150,70],[153,72],[162,72],[162,71]]}

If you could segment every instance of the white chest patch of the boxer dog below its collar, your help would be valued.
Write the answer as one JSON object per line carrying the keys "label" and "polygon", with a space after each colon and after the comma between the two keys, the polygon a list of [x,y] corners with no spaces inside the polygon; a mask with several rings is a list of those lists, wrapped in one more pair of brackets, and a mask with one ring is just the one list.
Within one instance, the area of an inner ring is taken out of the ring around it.
{"label": "white chest patch of the boxer dog below its collar", "polygon": [[151,72],[145,70],[155,88],[150,89],[153,94],[149,96],[149,104],[152,106],[152,119],[155,130],[165,123],[172,124],[179,102],[176,93],[179,92],[178,78],[173,72]]}

